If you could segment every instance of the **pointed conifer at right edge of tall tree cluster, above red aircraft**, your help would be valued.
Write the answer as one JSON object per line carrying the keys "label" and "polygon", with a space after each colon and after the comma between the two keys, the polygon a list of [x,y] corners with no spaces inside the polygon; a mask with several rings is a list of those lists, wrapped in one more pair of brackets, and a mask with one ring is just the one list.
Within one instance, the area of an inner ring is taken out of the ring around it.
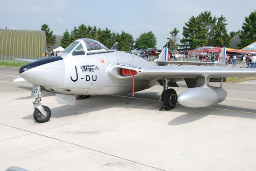
{"label": "pointed conifer at right edge of tall tree cluster, above red aircraft", "polygon": [[226,21],[222,15],[218,18],[217,24],[213,27],[212,46],[229,47],[231,37],[227,33]]}

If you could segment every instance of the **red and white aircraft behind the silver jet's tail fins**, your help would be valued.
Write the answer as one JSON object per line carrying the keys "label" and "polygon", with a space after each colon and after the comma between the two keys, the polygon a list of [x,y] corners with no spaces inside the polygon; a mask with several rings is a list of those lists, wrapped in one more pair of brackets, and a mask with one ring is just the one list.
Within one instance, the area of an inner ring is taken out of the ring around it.
{"label": "red and white aircraft behind the silver jet's tail fins", "polygon": [[[181,53],[185,53],[186,55],[200,55],[202,53],[212,53],[212,52],[221,52],[222,48],[213,47],[213,46],[203,46],[200,48],[195,48],[191,51],[185,51]],[[232,49],[226,48],[228,54],[244,54],[244,53],[255,53],[256,52],[256,42],[242,48],[242,49]]]}

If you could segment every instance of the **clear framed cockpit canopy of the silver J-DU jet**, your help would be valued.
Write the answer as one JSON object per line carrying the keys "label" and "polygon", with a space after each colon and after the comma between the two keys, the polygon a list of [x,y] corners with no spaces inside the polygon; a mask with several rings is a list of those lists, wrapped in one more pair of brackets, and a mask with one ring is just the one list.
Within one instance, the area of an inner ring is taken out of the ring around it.
{"label": "clear framed cockpit canopy of the silver J-DU jet", "polygon": [[93,39],[78,39],[65,48],[62,53],[72,52],[73,56],[109,52],[109,49]]}

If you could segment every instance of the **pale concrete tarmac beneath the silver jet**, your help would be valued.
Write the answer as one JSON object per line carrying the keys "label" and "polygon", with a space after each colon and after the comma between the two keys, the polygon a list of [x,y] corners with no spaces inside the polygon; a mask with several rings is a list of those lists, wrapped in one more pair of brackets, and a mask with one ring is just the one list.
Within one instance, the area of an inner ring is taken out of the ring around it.
{"label": "pale concrete tarmac beneath the silver jet", "polygon": [[171,111],[159,111],[160,85],[74,106],[46,92],[52,117],[37,123],[31,90],[12,83],[18,69],[0,67],[0,171],[256,170],[256,81],[224,83],[228,98],[212,107]]}

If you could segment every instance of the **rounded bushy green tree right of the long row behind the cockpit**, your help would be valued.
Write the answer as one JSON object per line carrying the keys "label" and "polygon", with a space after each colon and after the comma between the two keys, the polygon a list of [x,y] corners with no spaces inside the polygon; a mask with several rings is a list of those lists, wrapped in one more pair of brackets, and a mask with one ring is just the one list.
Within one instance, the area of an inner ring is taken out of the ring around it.
{"label": "rounded bushy green tree right of the long row behind the cockpit", "polygon": [[144,51],[147,48],[156,48],[156,36],[153,32],[142,33],[136,40],[134,48]]}

